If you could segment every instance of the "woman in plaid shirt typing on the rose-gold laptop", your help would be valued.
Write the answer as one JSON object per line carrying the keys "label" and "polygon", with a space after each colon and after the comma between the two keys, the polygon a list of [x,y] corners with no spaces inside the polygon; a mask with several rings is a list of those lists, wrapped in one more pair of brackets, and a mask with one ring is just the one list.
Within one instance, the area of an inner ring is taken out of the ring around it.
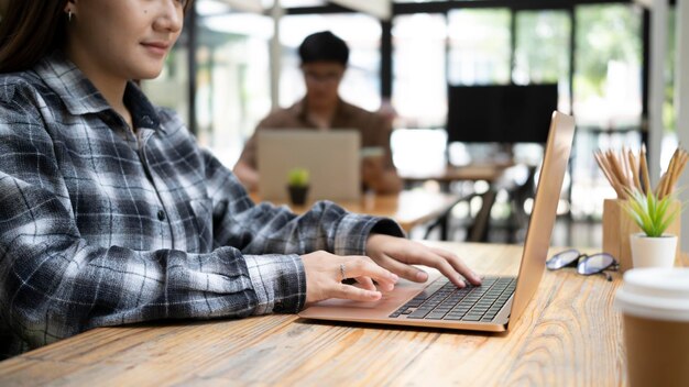
{"label": "woman in plaid shirt typing on the rose-gold laptop", "polygon": [[[0,357],[95,327],[373,301],[397,276],[426,280],[411,264],[479,284],[457,256],[404,239],[389,219],[326,201],[299,217],[254,204],[130,81],[160,74],[188,7],[10,0],[0,22]],[[359,286],[341,283],[342,268]]]}

